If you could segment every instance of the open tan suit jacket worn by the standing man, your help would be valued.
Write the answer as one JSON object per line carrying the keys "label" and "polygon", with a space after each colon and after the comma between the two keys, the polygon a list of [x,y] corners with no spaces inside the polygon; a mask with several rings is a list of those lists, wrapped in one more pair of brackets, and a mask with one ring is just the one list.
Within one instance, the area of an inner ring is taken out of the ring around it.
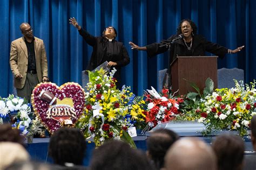
{"label": "open tan suit jacket worn by the standing man", "polygon": [[[34,45],[37,78],[39,82],[42,82],[44,76],[48,77],[48,64],[44,41],[35,37]],[[26,81],[26,72],[28,70],[28,49],[26,48],[24,37],[11,42],[10,67],[14,76],[18,73],[23,76],[22,79],[14,79],[14,86],[18,89],[22,89]]]}

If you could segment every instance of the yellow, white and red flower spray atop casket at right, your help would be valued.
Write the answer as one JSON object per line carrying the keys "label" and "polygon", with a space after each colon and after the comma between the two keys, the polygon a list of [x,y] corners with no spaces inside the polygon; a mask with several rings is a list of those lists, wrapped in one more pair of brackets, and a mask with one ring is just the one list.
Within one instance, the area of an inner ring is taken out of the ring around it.
{"label": "yellow, white and red flower spray atop casket at right", "polygon": [[193,117],[206,125],[204,133],[213,130],[237,130],[241,136],[247,134],[250,121],[256,114],[255,81],[248,84],[235,81],[235,88],[216,89],[201,98],[194,108]]}

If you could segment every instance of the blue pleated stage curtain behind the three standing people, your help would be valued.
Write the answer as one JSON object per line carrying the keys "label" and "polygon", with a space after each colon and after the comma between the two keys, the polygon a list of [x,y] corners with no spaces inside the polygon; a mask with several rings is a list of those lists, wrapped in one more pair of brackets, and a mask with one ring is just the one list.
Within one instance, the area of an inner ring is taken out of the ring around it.
{"label": "blue pleated stage curtain behind the three standing people", "polygon": [[129,41],[144,46],[167,39],[184,18],[194,20],[198,33],[210,41],[231,49],[245,45],[240,53],[219,59],[218,67],[244,69],[246,82],[250,82],[256,76],[255,9],[254,0],[2,0],[0,96],[12,93],[10,44],[22,36],[22,22],[30,23],[35,36],[45,42],[50,81],[58,86],[70,81],[82,84],[81,72],[92,47],[69,24],[70,17],[95,36],[107,26],[116,27],[117,40],[124,42],[131,58],[122,70],[122,84],[131,86],[137,95],[150,86],[157,88],[158,70],[168,67],[169,54],[149,59],[145,51],[132,51]]}

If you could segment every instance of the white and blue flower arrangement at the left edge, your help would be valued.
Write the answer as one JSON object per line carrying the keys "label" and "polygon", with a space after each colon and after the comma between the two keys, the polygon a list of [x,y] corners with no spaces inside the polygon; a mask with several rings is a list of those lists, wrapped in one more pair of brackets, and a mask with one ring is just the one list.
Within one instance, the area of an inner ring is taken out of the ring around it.
{"label": "white and blue flower arrangement at the left edge", "polygon": [[30,104],[23,98],[14,95],[0,98],[0,119],[2,119],[2,123],[11,123],[13,128],[17,128],[23,134],[26,134],[31,125],[32,115]]}

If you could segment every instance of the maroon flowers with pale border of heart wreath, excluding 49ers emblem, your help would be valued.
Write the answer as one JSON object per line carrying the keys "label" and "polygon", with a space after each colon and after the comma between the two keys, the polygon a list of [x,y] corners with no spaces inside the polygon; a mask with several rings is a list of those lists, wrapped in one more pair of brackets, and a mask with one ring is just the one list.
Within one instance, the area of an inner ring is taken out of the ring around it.
{"label": "maroon flowers with pale border of heart wreath, excluding 49ers emblem", "polygon": [[43,123],[44,127],[53,133],[59,129],[62,124],[56,119],[49,118],[46,112],[50,108],[50,103],[41,99],[42,91],[48,91],[56,98],[62,101],[64,98],[71,98],[73,101],[73,109],[75,109],[76,117],[71,117],[72,124],[75,124],[79,117],[83,114],[85,104],[84,89],[74,82],[68,82],[58,87],[55,83],[39,83],[33,90],[31,103],[37,118]]}

